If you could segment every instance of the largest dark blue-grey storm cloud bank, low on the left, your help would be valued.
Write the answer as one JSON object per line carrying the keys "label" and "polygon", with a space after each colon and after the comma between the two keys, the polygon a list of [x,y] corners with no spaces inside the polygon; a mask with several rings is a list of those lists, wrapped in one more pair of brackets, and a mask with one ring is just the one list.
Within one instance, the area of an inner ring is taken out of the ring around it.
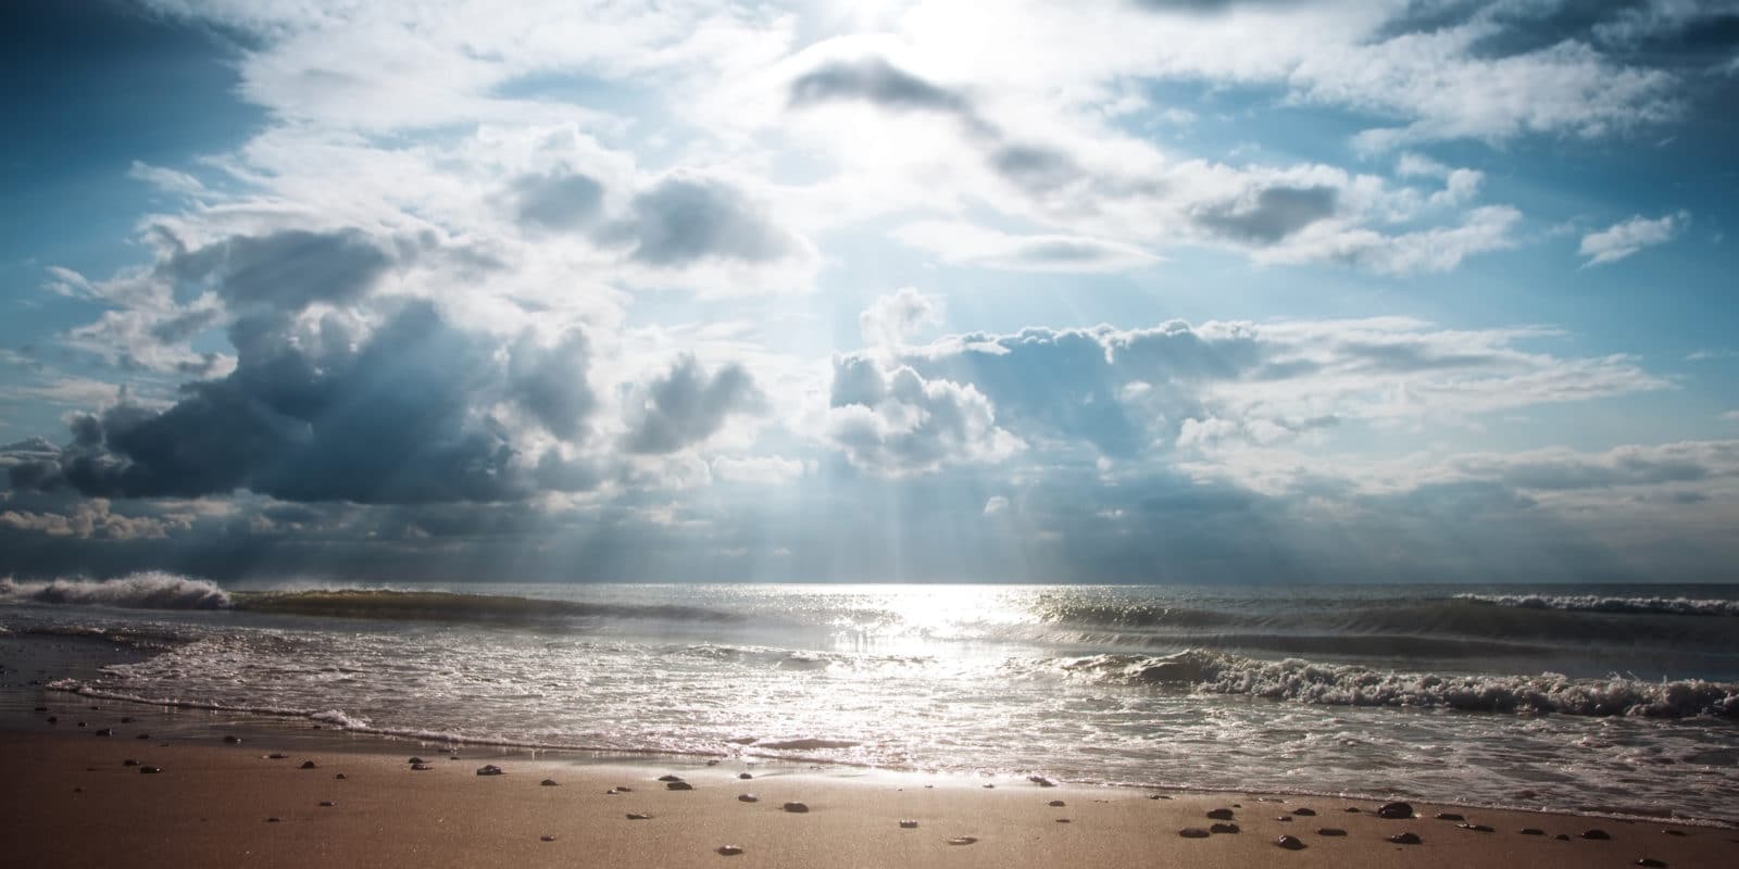
{"label": "largest dark blue-grey storm cloud bank, low on the left", "polygon": [[92,497],[245,488],[310,502],[515,501],[536,480],[487,408],[508,400],[574,436],[593,407],[577,332],[550,349],[520,342],[503,363],[496,339],[428,302],[405,304],[355,344],[332,318],[322,328],[315,339],[283,320],[237,323],[233,374],[184,386],[165,410],[122,403],[75,417],[56,466],[14,466],[12,485]]}

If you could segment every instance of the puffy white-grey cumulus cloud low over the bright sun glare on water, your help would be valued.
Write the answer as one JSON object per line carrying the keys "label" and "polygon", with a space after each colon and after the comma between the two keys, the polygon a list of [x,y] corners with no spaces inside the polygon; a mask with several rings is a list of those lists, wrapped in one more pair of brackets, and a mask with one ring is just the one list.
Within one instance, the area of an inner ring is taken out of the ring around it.
{"label": "puffy white-grey cumulus cloud low over the bright sun glare on water", "polygon": [[1023,448],[996,428],[996,410],[972,386],[927,381],[866,358],[833,362],[828,440],[857,468],[923,474],[958,462],[998,462]]}

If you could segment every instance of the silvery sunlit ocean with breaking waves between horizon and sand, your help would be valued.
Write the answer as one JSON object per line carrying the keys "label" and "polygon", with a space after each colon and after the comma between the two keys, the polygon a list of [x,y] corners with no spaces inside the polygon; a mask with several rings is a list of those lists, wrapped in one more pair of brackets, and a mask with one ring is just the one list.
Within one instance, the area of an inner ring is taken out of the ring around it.
{"label": "silvery sunlit ocean with breaking waves between horizon and sand", "polygon": [[[1739,822],[1739,586],[0,580],[50,692],[442,744]],[[0,636],[3,640],[3,636]]]}

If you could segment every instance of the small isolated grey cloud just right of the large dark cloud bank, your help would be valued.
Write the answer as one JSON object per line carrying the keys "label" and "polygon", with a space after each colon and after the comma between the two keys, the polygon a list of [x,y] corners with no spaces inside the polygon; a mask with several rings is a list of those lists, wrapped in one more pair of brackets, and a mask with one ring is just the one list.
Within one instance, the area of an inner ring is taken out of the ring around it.
{"label": "small isolated grey cloud just right of the large dark cloud bank", "polygon": [[713,436],[730,414],[758,414],[765,403],[744,367],[727,363],[708,375],[694,356],[683,355],[636,391],[623,448],[676,452]]}

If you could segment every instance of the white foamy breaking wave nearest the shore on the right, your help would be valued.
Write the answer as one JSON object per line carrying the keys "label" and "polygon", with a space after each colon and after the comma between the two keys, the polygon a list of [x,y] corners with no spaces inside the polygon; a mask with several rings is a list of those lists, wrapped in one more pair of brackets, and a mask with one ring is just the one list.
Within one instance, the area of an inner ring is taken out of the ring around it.
{"label": "white foamy breaking wave nearest the shore on the right", "polygon": [[1219,652],[1176,655],[1094,655],[1061,664],[1071,674],[1106,681],[1184,685],[1210,693],[1249,693],[1327,706],[1447,707],[1483,713],[1582,716],[1739,718],[1739,685],[1685,680],[1572,680],[1539,676],[1440,676],[1384,673],[1309,660],[1256,660]]}

